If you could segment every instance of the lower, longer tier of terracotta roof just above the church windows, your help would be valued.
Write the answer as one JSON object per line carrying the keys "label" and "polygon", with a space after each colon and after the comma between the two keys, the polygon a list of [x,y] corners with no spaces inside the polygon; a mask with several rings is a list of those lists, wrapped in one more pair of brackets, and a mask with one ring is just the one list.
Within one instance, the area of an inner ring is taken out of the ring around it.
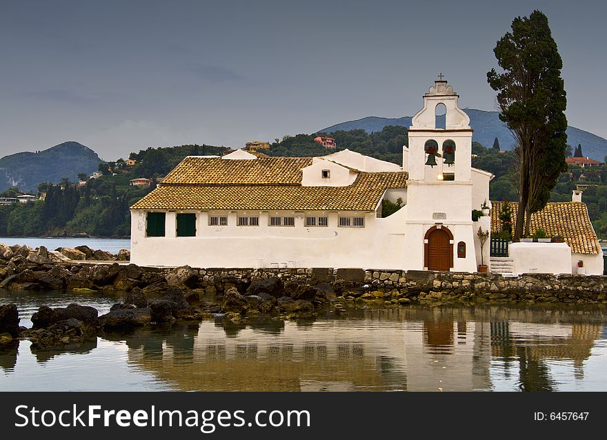
{"label": "lower, longer tier of terracotta roof just above the church windows", "polygon": [[[405,188],[406,179],[406,172],[360,172],[350,186],[167,185],[165,179],[131,208],[372,211],[387,188]],[[263,176],[263,180],[269,181],[270,176]]]}

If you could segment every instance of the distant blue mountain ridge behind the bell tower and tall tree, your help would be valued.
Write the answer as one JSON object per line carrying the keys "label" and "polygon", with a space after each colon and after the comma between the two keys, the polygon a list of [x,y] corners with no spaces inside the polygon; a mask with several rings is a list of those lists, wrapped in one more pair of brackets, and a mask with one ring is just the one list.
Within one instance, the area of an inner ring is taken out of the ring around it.
{"label": "distant blue mountain ridge behind the bell tower and tall tree", "polygon": [[[472,140],[482,143],[486,147],[493,145],[493,140],[499,139],[499,146],[504,150],[513,148],[514,139],[506,124],[499,119],[499,112],[486,112],[484,110],[476,110],[474,108],[466,108],[464,112],[470,117],[470,127],[474,134]],[[379,132],[385,126],[411,126],[411,117],[402,118],[381,118],[369,116],[356,121],[348,121],[338,123],[335,126],[330,126],[319,130],[318,132],[335,132],[337,130],[355,130],[362,128],[366,132]],[[579,128],[568,126],[567,128],[567,143],[574,148],[581,144],[581,150],[584,156],[590,157],[597,161],[604,161],[607,155],[607,139],[580,130]]]}

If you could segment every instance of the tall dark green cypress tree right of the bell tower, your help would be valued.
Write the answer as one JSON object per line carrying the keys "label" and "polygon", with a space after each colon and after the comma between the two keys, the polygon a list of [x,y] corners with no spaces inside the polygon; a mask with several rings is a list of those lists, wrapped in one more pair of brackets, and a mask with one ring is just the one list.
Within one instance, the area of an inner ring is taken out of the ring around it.
{"label": "tall dark green cypress tree right of the bell tower", "polygon": [[563,61],[548,18],[533,11],[517,17],[494,49],[497,63],[487,74],[498,92],[499,118],[515,135],[519,210],[515,239],[529,231],[531,214],[546,206],[560,172],[566,170],[565,108],[567,104]]}

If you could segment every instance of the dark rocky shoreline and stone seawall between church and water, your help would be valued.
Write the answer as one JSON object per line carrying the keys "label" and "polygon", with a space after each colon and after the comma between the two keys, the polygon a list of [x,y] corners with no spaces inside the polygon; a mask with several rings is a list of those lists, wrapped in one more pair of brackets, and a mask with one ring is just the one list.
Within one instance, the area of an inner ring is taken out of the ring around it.
{"label": "dark rocky shoreline and stone seawall between church and water", "polygon": [[[117,255],[0,245],[0,288],[125,292],[99,316],[71,304],[39,308],[33,327],[19,327],[14,304],[0,306],[0,344],[29,339],[33,346],[83,343],[105,332],[221,317],[239,323],[254,317],[301,319],[344,314],[348,307],[437,306],[443,303],[607,303],[607,277],[333,268],[148,268]],[[60,253],[63,257],[57,257]],[[74,261],[72,257],[81,260]],[[155,299],[152,299],[155,297]]]}

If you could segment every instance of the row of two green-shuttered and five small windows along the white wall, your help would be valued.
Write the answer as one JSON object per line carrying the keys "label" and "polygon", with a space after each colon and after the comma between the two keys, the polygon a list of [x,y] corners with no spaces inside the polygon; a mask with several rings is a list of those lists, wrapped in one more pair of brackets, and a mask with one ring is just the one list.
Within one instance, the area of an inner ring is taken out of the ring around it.
{"label": "row of two green-shuttered and five small windows along the white wall", "polygon": [[[324,228],[329,226],[328,217],[306,217],[306,227]],[[208,217],[209,226],[228,226],[227,216]],[[238,226],[259,226],[259,217],[238,217]],[[364,217],[339,217],[340,228],[364,228]],[[268,226],[295,226],[295,217],[272,216]],[[164,212],[148,212],[146,234],[148,237],[164,237],[166,228],[166,214]],[[196,237],[196,214],[177,214],[177,237]]]}

